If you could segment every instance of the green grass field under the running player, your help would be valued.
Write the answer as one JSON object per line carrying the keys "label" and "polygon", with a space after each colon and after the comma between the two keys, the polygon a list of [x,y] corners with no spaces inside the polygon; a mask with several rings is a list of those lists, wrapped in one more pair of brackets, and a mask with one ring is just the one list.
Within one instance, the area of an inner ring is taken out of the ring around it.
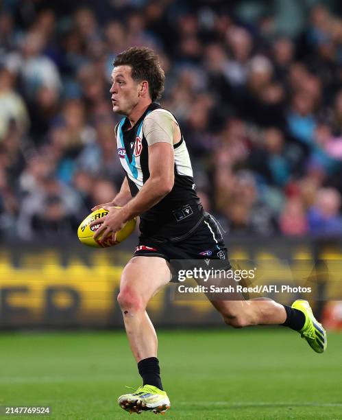
{"label": "green grass field under the running player", "polygon": [[[323,355],[285,328],[160,331],[159,343],[163,419],[342,419],[342,334]],[[127,419],[117,397],[139,378],[123,332],[0,334],[0,405]]]}

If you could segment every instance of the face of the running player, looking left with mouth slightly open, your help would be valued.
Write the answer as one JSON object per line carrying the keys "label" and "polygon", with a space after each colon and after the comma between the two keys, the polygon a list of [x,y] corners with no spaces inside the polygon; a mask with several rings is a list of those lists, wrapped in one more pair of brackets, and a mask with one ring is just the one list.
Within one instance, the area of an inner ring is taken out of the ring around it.
{"label": "face of the running player, looking left with mouth slightly open", "polygon": [[141,83],[132,79],[130,66],[117,66],[112,71],[112,104],[114,113],[130,115],[132,109],[138,104]]}

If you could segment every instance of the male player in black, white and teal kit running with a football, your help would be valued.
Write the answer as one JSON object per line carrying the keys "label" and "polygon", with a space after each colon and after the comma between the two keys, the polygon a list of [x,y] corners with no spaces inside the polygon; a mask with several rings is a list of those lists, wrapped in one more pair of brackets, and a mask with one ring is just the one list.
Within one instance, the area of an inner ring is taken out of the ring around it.
{"label": "male player in black, white and teal kit running with a football", "polygon": [[[178,121],[156,102],[164,89],[158,56],[151,49],[132,47],[113,65],[112,106],[114,113],[125,116],[115,129],[125,179],[112,202],[94,207],[109,210],[93,222],[102,223],[94,236],[101,241],[112,233],[114,240],[125,222],[141,218],[139,244],[123,270],[118,302],[143,386],[118,402],[129,412],[164,413],[170,401],[162,388],[147,303],[169,283],[171,259],[227,259],[227,250],[219,227],[197,197]],[[299,331],[317,353],[326,349],[326,331],[306,301],[295,301],[292,307],[271,300],[211,303],[232,327],[284,325]]]}

